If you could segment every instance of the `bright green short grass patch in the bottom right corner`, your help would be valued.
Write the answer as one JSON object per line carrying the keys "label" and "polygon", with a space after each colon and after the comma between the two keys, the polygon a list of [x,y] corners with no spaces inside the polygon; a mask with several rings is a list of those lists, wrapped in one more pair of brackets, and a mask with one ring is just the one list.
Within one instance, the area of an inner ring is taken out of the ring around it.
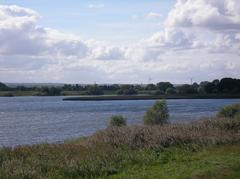
{"label": "bright green short grass patch in the bottom right corner", "polygon": [[129,166],[111,178],[240,178],[240,144],[214,146],[199,152],[172,149],[161,160]]}

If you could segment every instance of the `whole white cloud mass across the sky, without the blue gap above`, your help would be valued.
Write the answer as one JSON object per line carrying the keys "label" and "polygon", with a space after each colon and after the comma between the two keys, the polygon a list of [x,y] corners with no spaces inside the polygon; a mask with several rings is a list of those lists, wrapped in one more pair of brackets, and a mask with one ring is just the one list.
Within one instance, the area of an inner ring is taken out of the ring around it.
{"label": "whole white cloud mass across the sky, without the blue gap above", "polygon": [[[131,83],[152,76],[155,82],[181,83],[205,80],[206,74],[239,77],[238,5],[179,0],[162,31],[126,47],[39,27],[37,12],[0,6],[0,81]],[[220,23],[210,9],[228,18]]]}

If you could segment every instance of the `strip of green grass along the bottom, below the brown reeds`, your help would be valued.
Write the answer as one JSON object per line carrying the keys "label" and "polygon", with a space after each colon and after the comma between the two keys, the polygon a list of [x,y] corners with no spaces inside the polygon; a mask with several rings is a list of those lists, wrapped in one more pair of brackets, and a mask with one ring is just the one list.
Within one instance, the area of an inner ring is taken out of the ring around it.
{"label": "strip of green grass along the bottom, below the brown reeds", "polygon": [[195,151],[191,148],[104,150],[87,151],[66,144],[18,148],[17,153],[3,150],[0,178],[235,179],[240,176],[240,143]]}

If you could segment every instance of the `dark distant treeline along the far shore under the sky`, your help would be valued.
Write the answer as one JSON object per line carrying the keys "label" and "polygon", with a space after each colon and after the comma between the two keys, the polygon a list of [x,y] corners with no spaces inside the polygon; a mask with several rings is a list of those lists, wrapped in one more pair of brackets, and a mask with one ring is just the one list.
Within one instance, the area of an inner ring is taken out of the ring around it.
{"label": "dark distant treeline along the far shore under the sky", "polygon": [[159,82],[147,85],[70,85],[62,87],[9,87],[0,83],[0,91],[8,92],[9,96],[14,92],[29,92],[36,96],[59,96],[59,95],[171,95],[171,94],[240,94],[240,79],[223,78],[212,82],[203,81],[201,83],[173,85],[170,82]]}

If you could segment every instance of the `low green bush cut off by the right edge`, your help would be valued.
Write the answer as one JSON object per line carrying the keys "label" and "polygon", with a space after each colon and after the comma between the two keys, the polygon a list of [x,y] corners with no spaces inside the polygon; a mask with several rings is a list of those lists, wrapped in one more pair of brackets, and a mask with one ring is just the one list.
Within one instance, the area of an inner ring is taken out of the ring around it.
{"label": "low green bush cut off by the right edge", "polygon": [[222,107],[219,110],[217,116],[234,118],[238,113],[240,113],[240,104],[233,104],[230,106]]}

